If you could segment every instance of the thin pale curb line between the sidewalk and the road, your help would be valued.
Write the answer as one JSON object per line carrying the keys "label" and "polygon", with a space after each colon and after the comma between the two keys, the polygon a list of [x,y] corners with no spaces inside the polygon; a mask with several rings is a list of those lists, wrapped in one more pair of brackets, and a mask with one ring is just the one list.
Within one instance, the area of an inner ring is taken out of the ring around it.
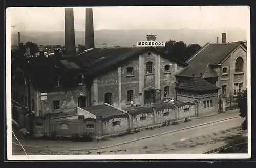
{"label": "thin pale curb line between the sidewalk and the road", "polygon": [[123,145],[123,144],[133,143],[133,142],[136,142],[136,141],[140,141],[142,139],[147,139],[147,138],[156,137],[156,136],[160,136],[160,135],[164,135],[164,134],[168,134],[168,133],[178,132],[178,131],[182,131],[182,130],[186,130],[186,129],[190,129],[190,128],[200,127],[200,126],[204,126],[204,125],[208,125],[208,124],[212,124],[212,123],[217,123],[217,122],[221,122],[221,121],[225,121],[225,120],[230,120],[230,119],[234,119],[234,118],[238,118],[238,116],[229,117],[229,118],[226,118],[226,119],[216,120],[216,121],[203,123],[203,124],[199,124],[199,125],[194,125],[194,126],[191,126],[191,127],[181,128],[181,129],[177,129],[177,130],[173,130],[173,131],[169,131],[169,132],[164,132],[164,133],[160,133],[160,134],[156,134],[156,135],[146,136],[146,137],[142,137],[142,138],[139,138],[139,139],[134,139],[132,141],[127,141],[127,142],[124,142],[124,143],[114,144],[114,145],[110,145],[110,146],[105,146],[105,147],[100,147],[100,148],[91,148],[91,149],[70,149],[70,150],[71,151],[92,151],[92,150],[106,149],[106,148],[111,148],[111,147],[115,147],[115,146],[119,146],[119,145]]}

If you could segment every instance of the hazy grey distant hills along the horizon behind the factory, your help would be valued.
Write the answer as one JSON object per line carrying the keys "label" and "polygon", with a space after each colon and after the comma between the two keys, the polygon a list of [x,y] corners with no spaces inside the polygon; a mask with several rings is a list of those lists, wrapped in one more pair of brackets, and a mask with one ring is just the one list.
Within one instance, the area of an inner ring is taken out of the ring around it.
{"label": "hazy grey distant hills along the horizon behind the factory", "polygon": [[[157,35],[156,41],[184,41],[186,44],[204,45],[207,42],[216,43],[216,37],[219,37],[221,43],[222,29],[133,29],[133,30],[98,30],[95,31],[95,47],[102,47],[102,43],[108,46],[119,45],[130,47],[136,44],[138,40],[146,40],[146,34]],[[246,39],[246,30],[226,29],[227,42],[242,41]],[[65,45],[64,32],[20,32],[21,42],[32,41],[38,45]],[[84,45],[84,32],[75,31],[76,44]],[[17,32],[11,36],[11,44],[18,43]]]}

